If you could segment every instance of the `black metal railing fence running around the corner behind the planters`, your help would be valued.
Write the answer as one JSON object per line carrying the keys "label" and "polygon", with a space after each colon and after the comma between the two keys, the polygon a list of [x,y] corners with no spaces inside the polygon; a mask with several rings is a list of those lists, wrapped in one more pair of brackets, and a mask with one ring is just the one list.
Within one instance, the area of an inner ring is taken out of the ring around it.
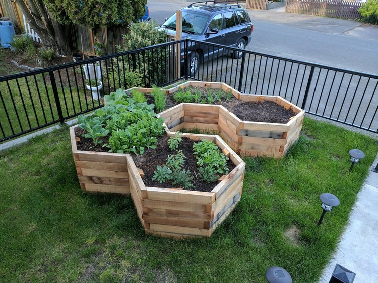
{"label": "black metal railing fence running around the corner behind the planters", "polygon": [[[181,73],[176,69],[181,49]],[[218,51],[218,52],[216,52]],[[191,77],[197,52],[209,58]],[[280,95],[308,113],[378,132],[378,75],[194,40],[167,42],[0,77],[0,142],[90,112],[117,88],[168,85],[180,79],[225,82],[244,93]],[[97,94],[100,93],[101,97]]]}

